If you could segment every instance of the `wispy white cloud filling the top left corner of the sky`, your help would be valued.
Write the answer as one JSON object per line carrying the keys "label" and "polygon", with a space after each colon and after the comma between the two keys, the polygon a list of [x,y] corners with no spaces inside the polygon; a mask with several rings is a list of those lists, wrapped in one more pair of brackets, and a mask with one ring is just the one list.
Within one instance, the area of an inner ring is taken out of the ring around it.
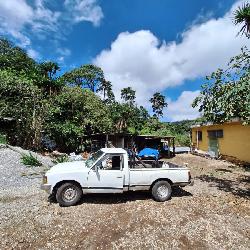
{"label": "wispy white cloud filling the top left corner of the sky", "polygon": [[[42,37],[48,31],[57,31],[60,12],[52,12],[43,0],[29,5],[26,0],[0,1],[0,33],[15,38],[19,45],[31,44],[30,36]],[[32,32],[32,33],[31,33]]]}

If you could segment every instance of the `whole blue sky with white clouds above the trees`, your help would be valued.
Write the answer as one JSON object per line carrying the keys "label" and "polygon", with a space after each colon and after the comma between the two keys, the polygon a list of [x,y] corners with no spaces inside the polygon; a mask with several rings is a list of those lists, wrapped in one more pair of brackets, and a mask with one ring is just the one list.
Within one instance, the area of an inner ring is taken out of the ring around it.
{"label": "whole blue sky with white clouds above the trees", "polygon": [[233,0],[0,0],[0,35],[61,73],[87,63],[102,67],[116,96],[131,86],[150,110],[156,91],[169,103],[164,120],[199,116],[190,104],[204,76],[237,54]]}

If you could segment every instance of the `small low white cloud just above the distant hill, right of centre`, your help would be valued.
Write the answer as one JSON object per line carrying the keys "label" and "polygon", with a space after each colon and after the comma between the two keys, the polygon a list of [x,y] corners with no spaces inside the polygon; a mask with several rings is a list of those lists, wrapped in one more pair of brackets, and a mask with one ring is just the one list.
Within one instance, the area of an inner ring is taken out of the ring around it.
{"label": "small low white cloud just above the distant hill, right of centre", "polygon": [[176,101],[168,101],[168,107],[164,112],[164,117],[171,121],[195,119],[200,116],[198,108],[193,109],[191,104],[195,97],[199,95],[199,90],[183,91]]}

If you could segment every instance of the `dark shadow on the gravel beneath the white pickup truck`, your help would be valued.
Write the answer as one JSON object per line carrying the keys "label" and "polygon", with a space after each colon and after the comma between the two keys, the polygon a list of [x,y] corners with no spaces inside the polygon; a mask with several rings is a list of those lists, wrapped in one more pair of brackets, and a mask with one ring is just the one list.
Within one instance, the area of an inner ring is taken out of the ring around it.
{"label": "dark shadow on the gravel beneath the white pickup truck", "polygon": [[[174,187],[172,197],[193,196],[190,192],[180,187]],[[86,194],[83,195],[79,204],[118,204],[137,200],[152,200],[150,192],[126,192],[123,194]],[[53,197],[49,197],[49,202],[56,203]]]}

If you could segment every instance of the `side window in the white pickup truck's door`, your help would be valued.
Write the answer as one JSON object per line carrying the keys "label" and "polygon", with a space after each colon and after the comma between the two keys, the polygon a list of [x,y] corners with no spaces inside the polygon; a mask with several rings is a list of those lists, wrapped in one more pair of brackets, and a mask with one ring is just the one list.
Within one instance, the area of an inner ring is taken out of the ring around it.
{"label": "side window in the white pickup truck's door", "polygon": [[123,167],[122,155],[105,155],[100,162],[100,168],[103,170],[121,170]]}

